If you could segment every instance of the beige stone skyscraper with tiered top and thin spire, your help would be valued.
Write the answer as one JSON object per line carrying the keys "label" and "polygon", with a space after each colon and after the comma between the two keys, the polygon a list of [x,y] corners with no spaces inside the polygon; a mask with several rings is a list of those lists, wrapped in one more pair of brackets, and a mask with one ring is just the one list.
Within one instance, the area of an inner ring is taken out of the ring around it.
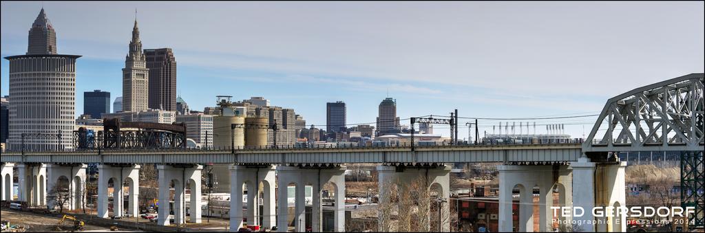
{"label": "beige stone skyscraper with tiered top and thin spire", "polygon": [[133,27],[130,51],[125,56],[123,68],[123,111],[139,112],[149,107],[149,69],[145,54],[142,53],[140,29],[137,19]]}

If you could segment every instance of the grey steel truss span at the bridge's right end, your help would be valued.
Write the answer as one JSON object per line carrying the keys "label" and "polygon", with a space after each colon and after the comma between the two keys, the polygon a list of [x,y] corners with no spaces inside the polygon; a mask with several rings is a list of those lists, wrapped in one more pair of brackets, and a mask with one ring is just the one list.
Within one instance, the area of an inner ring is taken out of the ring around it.
{"label": "grey steel truss span at the bridge's right end", "polygon": [[633,89],[605,103],[582,151],[702,151],[703,109],[702,73]]}

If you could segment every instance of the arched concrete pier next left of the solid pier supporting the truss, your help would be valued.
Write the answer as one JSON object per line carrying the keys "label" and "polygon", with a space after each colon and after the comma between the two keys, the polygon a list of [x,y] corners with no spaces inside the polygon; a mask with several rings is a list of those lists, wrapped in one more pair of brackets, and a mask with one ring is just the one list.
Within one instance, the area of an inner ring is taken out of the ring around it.
{"label": "arched concrete pier next left of the solid pier supporting the truss", "polygon": [[[518,232],[534,232],[534,218],[539,218],[539,232],[553,232],[553,189],[559,190],[559,206],[572,206],[570,170],[566,165],[499,165],[499,231],[512,232],[513,208],[518,206]],[[513,190],[519,190],[518,203]],[[534,216],[534,189],[538,189],[539,216]],[[560,219],[560,218],[557,218]]]}

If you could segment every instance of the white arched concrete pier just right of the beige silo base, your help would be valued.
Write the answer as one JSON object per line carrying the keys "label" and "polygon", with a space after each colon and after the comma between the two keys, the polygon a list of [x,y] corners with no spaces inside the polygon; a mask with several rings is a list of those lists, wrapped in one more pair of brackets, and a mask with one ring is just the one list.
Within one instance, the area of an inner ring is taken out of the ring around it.
{"label": "white arched concrete pier just right of the beige silo base", "polygon": [[[247,186],[247,225],[274,227],[276,225],[276,166],[273,165],[231,165],[229,187],[231,232],[243,227],[243,184]],[[262,195],[260,195],[260,184]],[[259,199],[262,199],[262,212],[259,213]],[[259,218],[262,217],[262,222]]]}

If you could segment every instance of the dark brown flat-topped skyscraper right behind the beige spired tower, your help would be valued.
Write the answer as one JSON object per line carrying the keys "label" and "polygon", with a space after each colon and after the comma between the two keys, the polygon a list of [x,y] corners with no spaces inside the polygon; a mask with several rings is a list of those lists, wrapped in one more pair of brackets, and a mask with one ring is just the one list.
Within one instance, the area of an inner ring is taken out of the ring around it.
{"label": "dark brown flat-topped skyscraper right behind the beige spired tower", "polygon": [[176,59],[171,49],[145,49],[149,108],[176,111]]}

